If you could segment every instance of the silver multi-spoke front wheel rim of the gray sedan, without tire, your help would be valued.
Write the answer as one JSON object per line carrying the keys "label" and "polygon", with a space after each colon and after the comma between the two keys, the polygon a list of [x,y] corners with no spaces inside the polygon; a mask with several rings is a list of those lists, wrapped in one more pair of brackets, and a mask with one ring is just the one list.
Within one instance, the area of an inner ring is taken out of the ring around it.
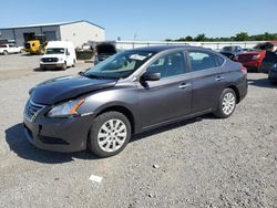
{"label": "silver multi-spoke front wheel rim of the gray sedan, without tire", "polygon": [[124,145],[126,137],[126,125],[121,119],[109,119],[100,127],[98,143],[102,150],[112,153]]}

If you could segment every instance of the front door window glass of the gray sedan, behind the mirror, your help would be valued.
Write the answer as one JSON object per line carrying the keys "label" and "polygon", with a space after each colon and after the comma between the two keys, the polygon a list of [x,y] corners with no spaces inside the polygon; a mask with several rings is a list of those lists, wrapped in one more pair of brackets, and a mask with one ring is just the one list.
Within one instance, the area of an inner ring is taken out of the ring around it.
{"label": "front door window glass of the gray sedan, behind the mirror", "polygon": [[185,73],[185,59],[183,52],[174,52],[157,59],[152,63],[147,73],[160,73],[161,79]]}

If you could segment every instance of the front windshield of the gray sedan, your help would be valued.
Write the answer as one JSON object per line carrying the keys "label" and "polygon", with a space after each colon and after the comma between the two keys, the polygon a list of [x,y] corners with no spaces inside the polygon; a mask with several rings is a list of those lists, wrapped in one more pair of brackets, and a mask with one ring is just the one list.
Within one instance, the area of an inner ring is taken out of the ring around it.
{"label": "front windshield of the gray sedan", "polygon": [[116,53],[83,73],[88,77],[123,79],[130,76],[154,55],[148,51],[125,51]]}

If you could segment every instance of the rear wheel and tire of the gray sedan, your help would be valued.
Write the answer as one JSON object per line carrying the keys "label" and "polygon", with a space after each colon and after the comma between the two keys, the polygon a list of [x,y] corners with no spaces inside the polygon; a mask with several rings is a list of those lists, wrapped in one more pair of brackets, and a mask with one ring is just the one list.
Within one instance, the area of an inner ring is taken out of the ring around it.
{"label": "rear wheel and tire of the gray sedan", "polygon": [[225,89],[222,92],[217,104],[217,110],[214,112],[214,115],[218,118],[229,117],[236,108],[236,93],[232,89]]}

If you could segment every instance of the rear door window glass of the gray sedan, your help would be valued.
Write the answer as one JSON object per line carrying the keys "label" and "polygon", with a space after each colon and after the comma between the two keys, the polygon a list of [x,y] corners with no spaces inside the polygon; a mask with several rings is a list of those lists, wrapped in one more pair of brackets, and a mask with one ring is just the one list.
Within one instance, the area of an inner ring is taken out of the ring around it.
{"label": "rear door window glass of the gray sedan", "polygon": [[188,52],[188,58],[193,72],[218,66],[217,62],[214,59],[214,54],[208,52],[201,52],[201,51]]}

